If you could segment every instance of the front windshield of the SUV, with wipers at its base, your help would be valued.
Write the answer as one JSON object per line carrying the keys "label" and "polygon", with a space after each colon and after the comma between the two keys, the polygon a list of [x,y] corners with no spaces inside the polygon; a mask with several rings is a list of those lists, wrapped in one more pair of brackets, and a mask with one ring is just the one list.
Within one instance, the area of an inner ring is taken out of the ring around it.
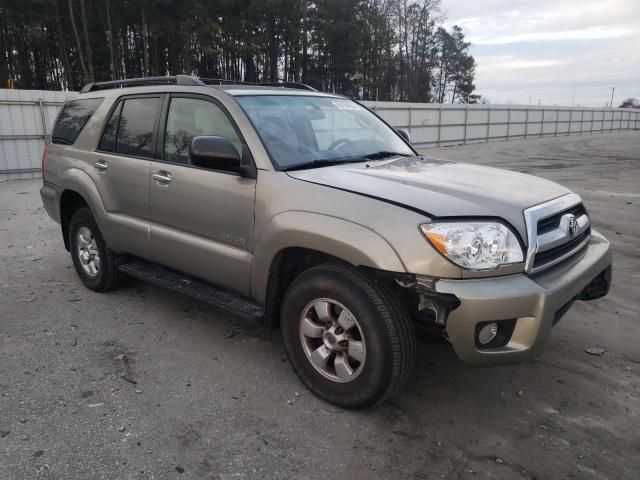
{"label": "front windshield of the SUV, with wipers at its base", "polygon": [[414,155],[395,131],[351,100],[293,95],[236,100],[280,169]]}

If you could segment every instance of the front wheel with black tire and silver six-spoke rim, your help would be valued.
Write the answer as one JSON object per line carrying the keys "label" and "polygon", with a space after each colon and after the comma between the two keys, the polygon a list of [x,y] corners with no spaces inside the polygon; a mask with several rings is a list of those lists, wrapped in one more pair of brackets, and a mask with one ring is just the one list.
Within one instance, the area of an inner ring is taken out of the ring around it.
{"label": "front wheel with black tire and silver six-spoke rim", "polygon": [[416,340],[408,312],[386,285],[354,268],[324,264],[296,277],[283,300],[281,327],[300,380],[343,408],[384,401],[413,367]]}

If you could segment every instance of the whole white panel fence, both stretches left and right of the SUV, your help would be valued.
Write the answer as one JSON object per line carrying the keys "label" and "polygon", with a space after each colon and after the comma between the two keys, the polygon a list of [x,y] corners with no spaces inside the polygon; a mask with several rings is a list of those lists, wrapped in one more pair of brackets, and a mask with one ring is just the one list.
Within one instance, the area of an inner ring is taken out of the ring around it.
{"label": "whole white panel fence, both stretches left and right of the SUV", "polygon": [[[40,176],[53,121],[75,92],[0,90],[0,181]],[[640,111],[527,105],[364,102],[416,147],[638,130]]]}

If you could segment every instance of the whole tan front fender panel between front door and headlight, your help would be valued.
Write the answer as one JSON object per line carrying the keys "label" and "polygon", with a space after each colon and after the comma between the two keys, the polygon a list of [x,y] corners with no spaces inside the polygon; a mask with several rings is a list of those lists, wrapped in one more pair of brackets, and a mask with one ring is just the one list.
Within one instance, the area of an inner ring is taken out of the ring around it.
{"label": "whole tan front fender panel between front door and headlight", "polygon": [[356,266],[460,278],[422,237],[426,215],[381,200],[260,171],[256,192],[252,294],[264,299],[271,262],[288,247],[327,253]]}

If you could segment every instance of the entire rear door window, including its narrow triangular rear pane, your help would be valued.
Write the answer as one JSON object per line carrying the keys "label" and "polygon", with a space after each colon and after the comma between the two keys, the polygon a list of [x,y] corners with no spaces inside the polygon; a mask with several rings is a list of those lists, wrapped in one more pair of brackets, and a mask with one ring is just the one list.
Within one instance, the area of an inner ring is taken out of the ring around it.
{"label": "entire rear door window, including its narrow triangular rear pane", "polygon": [[99,150],[153,157],[153,132],[160,98],[121,100],[100,139]]}

